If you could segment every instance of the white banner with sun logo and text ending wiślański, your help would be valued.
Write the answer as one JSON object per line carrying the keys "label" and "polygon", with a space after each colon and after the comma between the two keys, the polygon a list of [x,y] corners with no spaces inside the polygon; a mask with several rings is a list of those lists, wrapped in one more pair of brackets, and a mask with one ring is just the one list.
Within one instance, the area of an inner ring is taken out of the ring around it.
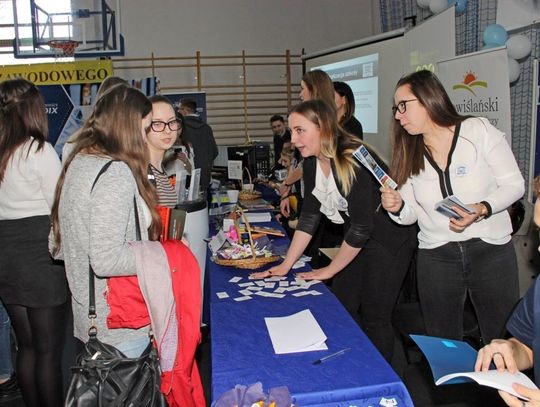
{"label": "white banner with sun logo and text ending wi\u015bla\u0144ski", "polygon": [[480,116],[506,133],[512,145],[510,84],[505,48],[486,50],[439,61],[438,76],[456,110]]}

